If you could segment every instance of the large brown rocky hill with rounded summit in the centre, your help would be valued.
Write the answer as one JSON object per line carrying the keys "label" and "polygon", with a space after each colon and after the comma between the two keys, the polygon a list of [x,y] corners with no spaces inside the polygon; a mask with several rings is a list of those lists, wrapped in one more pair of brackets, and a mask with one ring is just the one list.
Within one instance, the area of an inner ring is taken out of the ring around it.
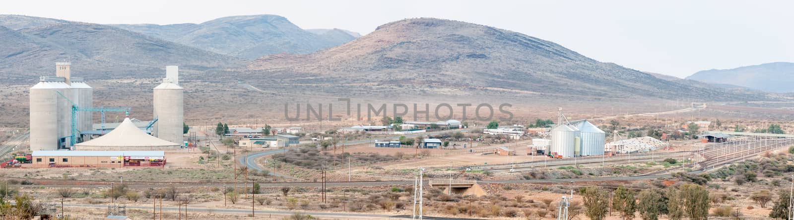
{"label": "large brown rocky hill with rounded summit in the centre", "polygon": [[381,83],[490,87],[603,97],[748,98],[715,87],[658,79],[592,60],[551,41],[461,21],[418,18],[381,25],[355,41],[308,55],[249,64],[291,83]]}

